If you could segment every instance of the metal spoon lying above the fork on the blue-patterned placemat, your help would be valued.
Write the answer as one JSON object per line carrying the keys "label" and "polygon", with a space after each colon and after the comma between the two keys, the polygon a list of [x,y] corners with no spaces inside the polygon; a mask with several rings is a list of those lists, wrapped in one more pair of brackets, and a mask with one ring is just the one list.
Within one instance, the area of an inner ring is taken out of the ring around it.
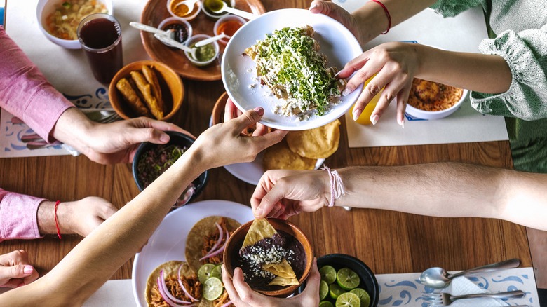
{"label": "metal spoon lying above the fork on the blue-patterned placemat", "polygon": [[459,276],[466,276],[481,272],[491,272],[506,268],[516,268],[520,265],[519,259],[509,259],[506,261],[497,262],[495,264],[487,264],[486,266],[479,266],[478,268],[471,268],[470,270],[461,271],[449,275],[444,268],[428,268],[424,273],[420,275],[420,282],[422,285],[435,289],[443,289],[450,285],[452,278]]}

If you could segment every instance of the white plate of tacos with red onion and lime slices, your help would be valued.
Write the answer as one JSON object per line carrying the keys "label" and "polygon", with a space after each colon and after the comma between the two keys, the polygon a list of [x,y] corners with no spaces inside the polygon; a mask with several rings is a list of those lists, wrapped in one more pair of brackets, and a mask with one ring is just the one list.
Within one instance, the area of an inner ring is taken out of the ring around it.
{"label": "white plate of tacos with red onion and lime slices", "polygon": [[[189,296],[192,296],[210,302],[210,306],[227,299],[223,288],[215,292],[216,279],[207,280],[218,278],[222,262],[219,257],[227,238],[238,226],[252,219],[250,207],[227,200],[192,203],[167,214],[133,261],[131,283],[137,305],[149,306],[149,302],[157,303],[164,296],[175,303],[191,301]],[[209,243],[211,246],[205,246]],[[173,298],[166,294],[166,289],[180,287],[177,286],[180,282],[187,285],[185,290],[189,296],[176,297],[171,293]],[[188,283],[196,286],[188,287]]]}

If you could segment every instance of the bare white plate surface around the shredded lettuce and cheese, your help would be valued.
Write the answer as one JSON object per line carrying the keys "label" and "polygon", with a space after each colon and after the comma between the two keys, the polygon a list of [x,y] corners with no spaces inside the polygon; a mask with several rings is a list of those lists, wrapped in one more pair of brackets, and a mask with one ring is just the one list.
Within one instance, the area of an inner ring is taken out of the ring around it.
{"label": "bare white plate surface around the shredded lettuce and cheese", "polygon": [[338,69],[363,53],[357,39],[346,27],[336,20],[323,14],[313,14],[308,10],[287,8],[271,11],[250,20],[238,29],[229,40],[222,56],[222,82],[224,88],[234,104],[241,111],[264,107],[264,116],[260,123],[271,128],[282,130],[306,130],[326,125],[344,115],[356,102],[362,86],[345,97],[339,98],[339,104],[332,107],[329,113],[323,116],[312,116],[306,121],[298,121],[296,116],[288,117],[274,114],[274,107],[281,102],[270,95],[266,86],[249,88],[256,82],[255,63],[250,57],[242,56],[243,50],[266,38],[275,29],[283,27],[302,27],[311,25],[315,29],[315,39],[318,41],[320,52],[327,55],[328,66]]}

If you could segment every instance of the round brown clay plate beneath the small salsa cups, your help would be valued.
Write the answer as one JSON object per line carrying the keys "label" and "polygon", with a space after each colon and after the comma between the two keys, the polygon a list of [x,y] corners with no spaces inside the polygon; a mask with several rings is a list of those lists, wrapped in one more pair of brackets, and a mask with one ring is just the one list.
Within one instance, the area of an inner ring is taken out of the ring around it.
{"label": "round brown clay plate beneath the small salsa cups", "polygon": [[[163,20],[171,18],[168,8],[168,0],[148,1],[144,6],[140,22],[151,27],[158,27]],[[235,0],[234,7],[254,14],[266,12],[259,0]],[[205,14],[202,9],[198,15],[188,22],[192,28],[192,35],[207,34],[214,36],[215,18]],[[141,32],[142,45],[147,54],[154,60],[168,64],[182,77],[198,81],[220,80],[220,58],[224,52],[224,45],[220,43],[220,55],[217,60],[205,67],[198,67],[188,60],[184,51],[166,46],[154,37],[150,32]]]}

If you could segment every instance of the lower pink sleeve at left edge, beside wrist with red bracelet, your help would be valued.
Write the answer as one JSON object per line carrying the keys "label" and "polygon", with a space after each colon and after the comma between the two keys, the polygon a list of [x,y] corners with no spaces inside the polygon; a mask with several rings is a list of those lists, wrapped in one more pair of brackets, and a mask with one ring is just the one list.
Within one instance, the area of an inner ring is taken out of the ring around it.
{"label": "lower pink sleeve at left edge, beside wrist with red bracelet", "polygon": [[38,206],[43,200],[0,189],[0,241],[42,238]]}

